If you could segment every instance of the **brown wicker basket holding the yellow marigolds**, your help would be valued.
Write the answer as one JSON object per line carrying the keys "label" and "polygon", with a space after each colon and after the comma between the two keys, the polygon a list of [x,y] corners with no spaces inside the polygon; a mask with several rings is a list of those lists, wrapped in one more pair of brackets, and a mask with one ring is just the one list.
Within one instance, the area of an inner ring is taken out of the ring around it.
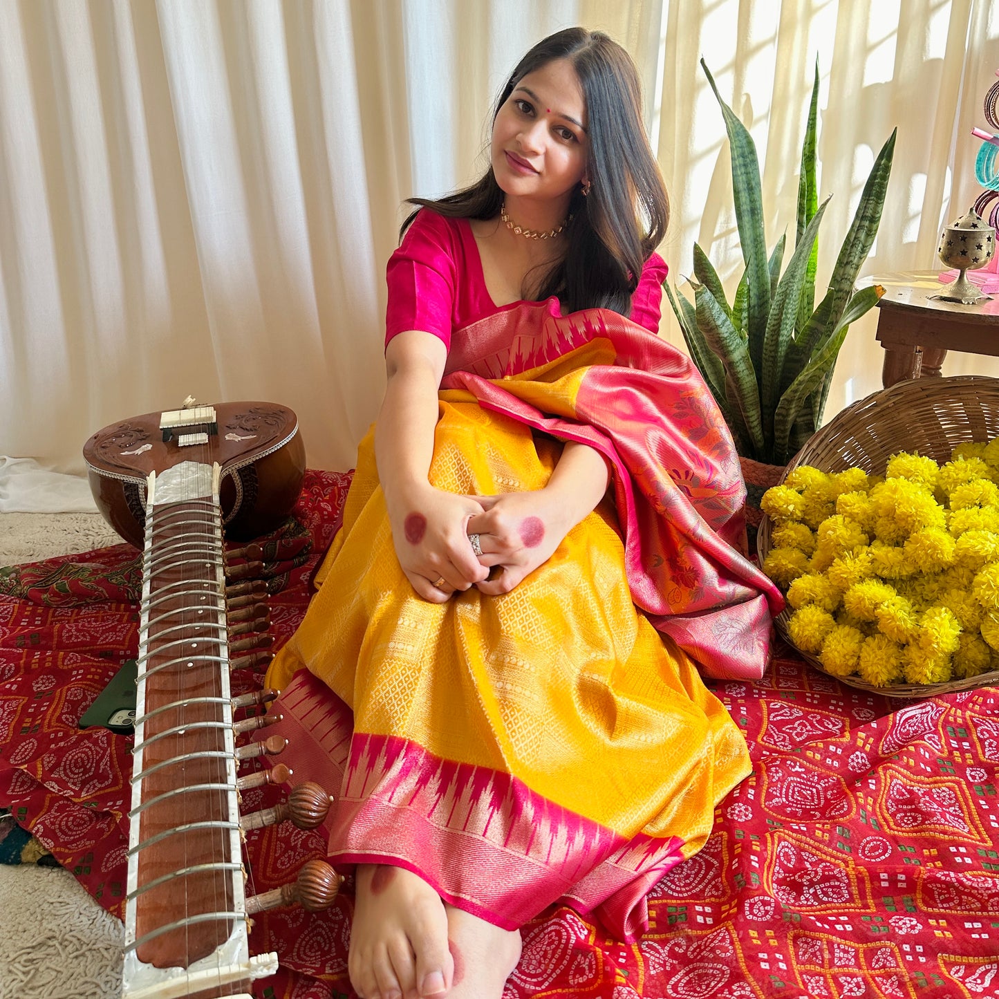
{"label": "brown wicker basket holding the yellow marigolds", "polygon": [[[794,456],[780,481],[783,483],[799,465],[822,472],[859,467],[869,474],[882,475],[888,459],[900,451],[915,452],[943,463],[959,444],[985,442],[994,437],[999,437],[999,379],[967,376],[900,382],[854,403],[834,417]],[[771,547],[770,529],[770,518],[764,516],[757,534],[760,562]],[[784,640],[793,645],[787,633],[789,617],[784,610],[776,625]],[[832,675],[817,656],[797,651],[816,669]],[[999,671],[946,683],[896,683],[888,687],[874,686],[855,675],[836,679],[892,697],[932,697],[999,683]]]}

